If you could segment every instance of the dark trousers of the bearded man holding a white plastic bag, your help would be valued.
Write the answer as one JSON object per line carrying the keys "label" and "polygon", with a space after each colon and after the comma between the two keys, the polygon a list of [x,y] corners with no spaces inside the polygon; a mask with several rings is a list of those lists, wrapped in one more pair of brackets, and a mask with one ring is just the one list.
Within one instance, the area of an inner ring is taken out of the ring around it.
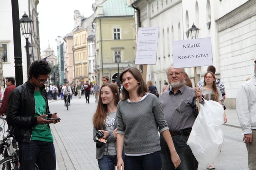
{"label": "dark trousers of the bearded man holding a white plastic bag", "polygon": [[190,147],[186,144],[188,137],[186,135],[172,136],[175,149],[181,159],[181,164],[177,169],[171,161],[170,150],[162,135],[160,135],[162,170],[197,170],[198,162],[195,159]]}

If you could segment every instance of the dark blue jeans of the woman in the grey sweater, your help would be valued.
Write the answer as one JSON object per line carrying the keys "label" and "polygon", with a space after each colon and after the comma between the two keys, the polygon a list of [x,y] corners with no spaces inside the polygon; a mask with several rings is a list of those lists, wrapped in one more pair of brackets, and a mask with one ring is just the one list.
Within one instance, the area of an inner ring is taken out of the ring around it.
{"label": "dark blue jeans of the woman in the grey sweater", "polygon": [[124,157],[125,170],[161,170],[162,158],[160,151],[143,156]]}

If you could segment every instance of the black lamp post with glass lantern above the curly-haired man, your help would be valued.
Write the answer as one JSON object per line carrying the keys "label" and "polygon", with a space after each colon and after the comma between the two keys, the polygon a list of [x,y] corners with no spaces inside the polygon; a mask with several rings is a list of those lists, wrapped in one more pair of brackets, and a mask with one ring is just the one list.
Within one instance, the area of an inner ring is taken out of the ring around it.
{"label": "black lamp post with glass lantern above the curly-haired man", "polygon": [[22,31],[22,35],[26,39],[26,53],[27,53],[27,73],[29,76],[29,66],[30,66],[30,56],[29,56],[29,36],[31,34],[33,20],[29,18],[29,16],[24,12],[24,15],[20,19],[20,28]]}

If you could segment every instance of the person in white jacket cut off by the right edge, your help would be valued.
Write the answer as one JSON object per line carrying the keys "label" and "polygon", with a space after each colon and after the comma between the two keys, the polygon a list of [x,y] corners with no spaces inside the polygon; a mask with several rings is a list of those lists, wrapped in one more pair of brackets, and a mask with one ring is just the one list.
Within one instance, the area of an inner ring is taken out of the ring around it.
{"label": "person in white jacket cut off by the right edge", "polygon": [[248,168],[256,170],[256,60],[254,75],[237,89],[236,112],[248,151]]}

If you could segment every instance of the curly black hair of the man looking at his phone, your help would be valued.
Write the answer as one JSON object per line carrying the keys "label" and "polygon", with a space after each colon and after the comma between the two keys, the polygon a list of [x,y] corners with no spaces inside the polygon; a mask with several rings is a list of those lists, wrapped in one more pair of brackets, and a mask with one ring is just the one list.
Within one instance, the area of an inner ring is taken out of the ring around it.
{"label": "curly black hair of the man looking at his phone", "polygon": [[29,67],[30,77],[33,75],[35,78],[38,78],[39,75],[46,75],[49,73],[51,73],[51,67],[46,61],[34,61]]}

